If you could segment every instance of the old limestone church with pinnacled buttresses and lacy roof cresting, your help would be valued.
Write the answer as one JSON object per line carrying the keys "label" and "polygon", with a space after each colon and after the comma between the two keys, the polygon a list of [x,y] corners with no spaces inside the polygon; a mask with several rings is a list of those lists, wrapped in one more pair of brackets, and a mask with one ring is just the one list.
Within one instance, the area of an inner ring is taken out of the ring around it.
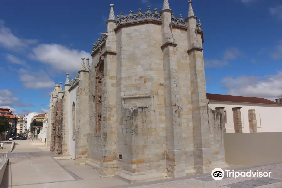
{"label": "old limestone church with pinnacled buttresses and lacy roof cresting", "polygon": [[160,12],[148,7],[117,18],[110,5],[91,69],[82,58],[62,97],[69,102],[67,90],[78,86],[73,106],[62,105],[63,117],[70,117],[65,108],[75,113],[75,127],[63,119],[62,135],[75,128],[76,164],[129,183],[227,167],[222,109],[207,105],[203,31],[188,3],[185,19],[175,18],[167,0]]}

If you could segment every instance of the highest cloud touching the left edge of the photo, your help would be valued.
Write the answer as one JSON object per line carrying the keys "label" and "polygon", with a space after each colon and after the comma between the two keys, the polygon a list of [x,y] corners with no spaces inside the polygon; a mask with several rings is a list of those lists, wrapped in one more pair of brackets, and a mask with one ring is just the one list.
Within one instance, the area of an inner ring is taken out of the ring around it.
{"label": "highest cloud touching the left edge of the photo", "polygon": [[33,39],[20,39],[16,37],[11,29],[4,26],[5,22],[0,20],[0,44],[9,49],[14,49],[17,47],[26,47],[29,44],[34,44],[37,41]]}

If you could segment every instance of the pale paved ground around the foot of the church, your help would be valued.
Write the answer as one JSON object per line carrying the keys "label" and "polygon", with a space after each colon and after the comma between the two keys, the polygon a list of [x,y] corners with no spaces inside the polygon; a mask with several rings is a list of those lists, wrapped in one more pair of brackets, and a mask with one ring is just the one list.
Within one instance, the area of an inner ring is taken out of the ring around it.
{"label": "pale paved ground around the foot of the church", "polygon": [[[282,163],[261,167],[241,167],[240,171],[271,171],[267,178],[223,178],[213,180],[211,174],[168,180],[127,184],[116,178],[100,178],[99,172],[86,165],[75,165],[73,159],[56,160],[55,154],[44,147],[16,141],[17,149],[8,153],[10,164],[1,188],[282,188]],[[23,152],[27,151],[27,152]],[[233,165],[238,167],[238,165]],[[232,166],[232,167],[233,167]],[[238,170],[238,171],[239,171]]]}

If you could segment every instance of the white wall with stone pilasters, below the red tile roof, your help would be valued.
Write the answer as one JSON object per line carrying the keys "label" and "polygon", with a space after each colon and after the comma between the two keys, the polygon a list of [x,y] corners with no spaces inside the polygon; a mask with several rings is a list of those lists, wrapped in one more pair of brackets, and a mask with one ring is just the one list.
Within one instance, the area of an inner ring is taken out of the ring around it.
{"label": "white wall with stone pilasters, below the red tile roof", "polygon": [[263,105],[263,104],[246,104],[246,103],[232,103],[232,102],[213,102],[210,101],[209,107],[215,109],[215,107],[225,107],[227,123],[225,123],[226,133],[235,133],[233,123],[232,108],[241,108],[241,119],[243,133],[249,133],[249,118],[248,110],[254,109],[257,118],[257,132],[282,132],[282,114],[281,105]]}

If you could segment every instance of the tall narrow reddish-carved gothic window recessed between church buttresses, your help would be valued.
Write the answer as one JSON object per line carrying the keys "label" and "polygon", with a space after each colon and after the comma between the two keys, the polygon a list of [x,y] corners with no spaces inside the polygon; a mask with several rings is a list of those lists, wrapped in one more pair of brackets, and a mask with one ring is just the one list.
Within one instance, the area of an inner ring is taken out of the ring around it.
{"label": "tall narrow reddish-carved gothic window recessed between church buttresses", "polygon": [[95,79],[95,133],[101,131],[102,125],[102,86],[104,77],[104,61],[100,61],[97,65],[96,79]]}

